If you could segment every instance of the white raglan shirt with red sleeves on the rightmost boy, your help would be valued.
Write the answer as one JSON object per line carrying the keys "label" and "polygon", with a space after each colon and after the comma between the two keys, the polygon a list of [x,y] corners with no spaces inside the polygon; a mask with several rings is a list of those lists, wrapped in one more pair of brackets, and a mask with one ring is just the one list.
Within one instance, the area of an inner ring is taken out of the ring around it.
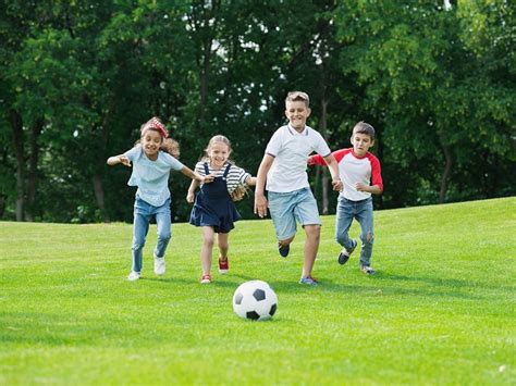
{"label": "white raglan shirt with red sleeves on the rightmost boy", "polygon": [[[381,175],[380,161],[369,151],[359,158],[353,151],[353,148],[341,149],[333,152],[333,157],[339,163],[339,174],[344,184],[344,189],[340,196],[351,201],[360,201],[371,197],[368,191],[358,191],[355,188],[356,183],[366,185],[377,185],[383,191],[383,182]],[[325,165],[321,155],[312,155],[308,160],[309,165]]]}

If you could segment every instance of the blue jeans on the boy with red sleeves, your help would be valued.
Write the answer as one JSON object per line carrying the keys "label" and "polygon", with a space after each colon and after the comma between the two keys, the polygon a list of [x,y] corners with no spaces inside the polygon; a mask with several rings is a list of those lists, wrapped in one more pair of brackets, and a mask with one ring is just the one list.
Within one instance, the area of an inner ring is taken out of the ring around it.
{"label": "blue jeans on the boy with red sleeves", "polygon": [[352,249],[353,240],[348,236],[353,219],[360,224],[360,265],[369,265],[372,254],[372,244],[374,241],[372,224],[372,198],[369,197],[360,201],[351,201],[344,197],[339,197],[336,204],[335,238],[342,247]]}

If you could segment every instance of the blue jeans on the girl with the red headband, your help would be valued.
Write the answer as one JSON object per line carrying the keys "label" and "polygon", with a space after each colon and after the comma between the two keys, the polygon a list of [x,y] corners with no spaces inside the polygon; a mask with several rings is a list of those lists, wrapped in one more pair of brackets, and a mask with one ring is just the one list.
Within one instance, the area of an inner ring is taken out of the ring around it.
{"label": "blue jeans on the girl with the red headband", "polygon": [[155,249],[155,257],[164,257],[164,251],[170,241],[170,199],[161,207],[153,207],[147,201],[136,198],[134,201],[134,224],[133,224],[133,271],[142,272],[145,238],[149,232],[150,219],[156,216],[158,226],[158,242]]}

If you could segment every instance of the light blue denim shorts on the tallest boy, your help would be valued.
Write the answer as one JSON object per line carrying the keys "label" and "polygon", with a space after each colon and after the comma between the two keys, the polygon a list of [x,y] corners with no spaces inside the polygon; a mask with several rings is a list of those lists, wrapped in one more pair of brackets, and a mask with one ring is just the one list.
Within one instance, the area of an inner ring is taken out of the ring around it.
{"label": "light blue denim shorts on the tallest boy", "polygon": [[296,234],[296,221],[305,225],[321,225],[317,201],[309,188],[288,192],[269,191],[269,211],[279,240]]}

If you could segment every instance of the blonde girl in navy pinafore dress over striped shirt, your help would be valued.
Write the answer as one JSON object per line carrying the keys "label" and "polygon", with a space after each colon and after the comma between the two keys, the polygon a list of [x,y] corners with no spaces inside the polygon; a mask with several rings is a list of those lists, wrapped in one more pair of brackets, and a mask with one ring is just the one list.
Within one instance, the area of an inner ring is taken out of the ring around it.
{"label": "blonde girl in navy pinafore dress over striped shirt", "polygon": [[186,200],[189,203],[195,200],[189,223],[202,227],[200,283],[209,284],[212,281],[210,271],[216,233],[220,252],[219,272],[225,274],[230,269],[228,239],[230,231],[234,228],[234,222],[241,219],[233,203],[232,194],[242,189],[244,184],[256,185],[256,178],[230,161],[231,144],[222,135],[210,139],[205,153],[206,155],[195,165],[195,171],[201,176],[212,175],[214,179],[209,185],[201,185],[197,197],[195,190],[199,184],[197,180],[192,180]]}

